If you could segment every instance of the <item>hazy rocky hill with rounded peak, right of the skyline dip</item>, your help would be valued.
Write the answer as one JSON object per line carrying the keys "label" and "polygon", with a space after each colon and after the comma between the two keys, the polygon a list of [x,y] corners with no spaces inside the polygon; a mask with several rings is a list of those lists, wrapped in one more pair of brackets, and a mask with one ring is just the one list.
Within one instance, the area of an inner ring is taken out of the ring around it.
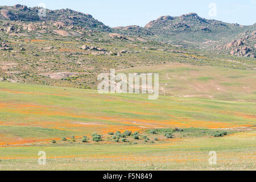
{"label": "hazy rocky hill with rounded peak, right of the skyline dip", "polygon": [[189,13],[175,17],[160,16],[147,23],[144,28],[157,35],[152,37],[155,40],[208,48],[218,45],[220,41],[228,43],[238,34],[249,30],[251,26],[209,20],[201,18],[196,13]]}

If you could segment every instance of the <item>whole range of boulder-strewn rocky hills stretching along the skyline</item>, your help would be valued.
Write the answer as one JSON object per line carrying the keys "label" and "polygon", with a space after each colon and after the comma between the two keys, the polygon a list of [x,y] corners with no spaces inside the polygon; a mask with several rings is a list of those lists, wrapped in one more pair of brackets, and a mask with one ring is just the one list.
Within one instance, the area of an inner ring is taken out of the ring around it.
{"label": "whole range of boulder-strewn rocky hills stretching along the skyline", "polygon": [[[144,27],[127,26],[110,28],[92,15],[71,9],[48,10],[39,16],[40,7],[25,5],[0,6],[0,31],[13,36],[52,35],[68,37],[91,36],[106,32],[109,38],[131,42],[158,42],[176,47],[207,49],[235,56],[255,56],[256,25],[224,23],[201,18],[196,13],[180,16],[160,16]],[[104,40],[102,36],[94,39]],[[104,40],[109,41],[109,40]],[[110,40],[111,41],[111,40]],[[242,44],[238,45],[238,42]]]}

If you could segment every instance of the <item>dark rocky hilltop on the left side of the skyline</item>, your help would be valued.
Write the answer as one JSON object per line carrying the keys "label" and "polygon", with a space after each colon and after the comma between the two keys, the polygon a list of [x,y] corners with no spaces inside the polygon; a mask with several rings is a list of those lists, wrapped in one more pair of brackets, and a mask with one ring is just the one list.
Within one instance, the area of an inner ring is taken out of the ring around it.
{"label": "dark rocky hilltop on the left side of the skyline", "polygon": [[21,22],[61,22],[67,26],[81,26],[92,30],[108,31],[110,28],[94,19],[92,15],[71,9],[48,10],[46,16],[39,16],[40,7],[25,5],[0,6],[0,20],[16,20]]}

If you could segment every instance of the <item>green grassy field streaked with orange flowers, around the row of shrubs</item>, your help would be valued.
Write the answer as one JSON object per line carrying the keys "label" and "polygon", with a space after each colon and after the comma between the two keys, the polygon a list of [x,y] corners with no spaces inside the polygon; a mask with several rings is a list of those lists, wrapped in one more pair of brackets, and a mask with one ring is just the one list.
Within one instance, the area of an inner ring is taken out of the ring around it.
{"label": "green grassy field streaked with orange flowers, around the row of shrubs", "polygon": [[[142,94],[0,82],[0,169],[255,170],[255,108],[249,101],[170,96],[149,101]],[[166,139],[159,133],[154,143],[137,144],[132,138],[117,143],[108,135],[174,127],[225,129],[228,135],[181,133]],[[92,133],[104,140],[81,142]],[[38,164],[39,151],[46,152],[46,166]],[[217,152],[217,165],[209,165],[210,151]]]}

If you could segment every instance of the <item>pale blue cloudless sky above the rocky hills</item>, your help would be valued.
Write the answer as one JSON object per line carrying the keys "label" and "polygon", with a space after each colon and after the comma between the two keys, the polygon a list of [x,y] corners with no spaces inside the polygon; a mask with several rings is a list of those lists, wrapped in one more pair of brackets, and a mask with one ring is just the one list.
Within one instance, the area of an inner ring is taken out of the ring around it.
{"label": "pale blue cloudless sky above the rocky hills", "polygon": [[110,27],[143,27],[159,16],[187,13],[227,23],[256,23],[256,0],[0,0],[1,6],[21,4],[33,7],[40,3],[51,10],[69,8],[91,14]]}

